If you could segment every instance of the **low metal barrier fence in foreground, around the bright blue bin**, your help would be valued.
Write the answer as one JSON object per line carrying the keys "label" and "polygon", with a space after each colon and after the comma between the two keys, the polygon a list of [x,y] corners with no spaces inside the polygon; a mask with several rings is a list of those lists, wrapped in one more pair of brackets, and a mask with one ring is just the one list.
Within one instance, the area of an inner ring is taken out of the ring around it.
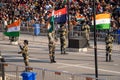
{"label": "low metal barrier fence in foreground, around the bright blue bin", "polygon": [[[24,71],[25,66],[15,65],[10,63],[0,63],[4,65],[5,80],[22,80],[21,73]],[[33,72],[36,72],[36,80],[96,80],[92,76],[85,76],[82,74],[72,74],[62,71],[53,71],[43,68],[29,67]],[[1,69],[0,69],[1,70]],[[105,80],[105,79],[98,79]]]}

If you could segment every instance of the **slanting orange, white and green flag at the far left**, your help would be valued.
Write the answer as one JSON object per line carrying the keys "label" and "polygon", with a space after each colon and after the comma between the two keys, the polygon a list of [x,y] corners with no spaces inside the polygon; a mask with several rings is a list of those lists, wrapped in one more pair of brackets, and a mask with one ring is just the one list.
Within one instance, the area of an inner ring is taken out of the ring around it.
{"label": "slanting orange, white and green flag at the far left", "polygon": [[9,37],[18,37],[20,35],[20,23],[21,20],[17,20],[12,24],[7,26],[7,31],[4,32],[4,35]]}

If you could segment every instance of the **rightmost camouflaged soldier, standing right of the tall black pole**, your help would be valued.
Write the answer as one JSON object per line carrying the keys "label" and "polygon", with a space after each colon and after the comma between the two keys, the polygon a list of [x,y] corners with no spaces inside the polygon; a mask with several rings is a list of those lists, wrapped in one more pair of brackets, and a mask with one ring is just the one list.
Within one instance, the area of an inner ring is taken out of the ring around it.
{"label": "rightmost camouflaged soldier, standing right of the tall black pole", "polygon": [[110,35],[110,33],[108,33],[107,36],[105,37],[105,42],[106,42],[106,62],[113,61],[111,59],[113,37]]}

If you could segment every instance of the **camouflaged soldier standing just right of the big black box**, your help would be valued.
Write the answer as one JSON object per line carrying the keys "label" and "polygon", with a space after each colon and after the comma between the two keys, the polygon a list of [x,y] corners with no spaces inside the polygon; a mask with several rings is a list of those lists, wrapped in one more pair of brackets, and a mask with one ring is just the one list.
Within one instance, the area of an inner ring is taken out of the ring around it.
{"label": "camouflaged soldier standing just right of the big black box", "polygon": [[90,47],[89,34],[90,34],[90,26],[85,21],[83,21],[82,22],[82,36],[87,40],[87,47]]}

